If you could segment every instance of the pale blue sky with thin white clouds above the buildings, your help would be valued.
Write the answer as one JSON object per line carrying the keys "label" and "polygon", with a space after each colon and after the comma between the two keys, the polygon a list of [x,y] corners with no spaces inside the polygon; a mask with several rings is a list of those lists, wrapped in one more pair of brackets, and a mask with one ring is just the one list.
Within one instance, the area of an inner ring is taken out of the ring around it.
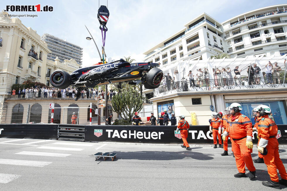
{"label": "pale blue sky with thin white clouds above the buildings", "polygon": [[99,4],[107,6],[110,11],[105,41],[107,57],[118,60],[131,56],[142,62],[143,52],[183,29],[184,24],[203,12],[223,22],[247,11],[284,3],[283,0],[11,0],[1,1],[0,8],[5,10],[6,5],[52,6],[51,12],[8,13],[37,14],[37,17],[21,17],[20,20],[40,36],[48,33],[82,47],[83,66],[88,66],[100,61],[93,41],[86,40],[89,33],[85,28],[86,25],[101,50],[102,36],[97,18]]}

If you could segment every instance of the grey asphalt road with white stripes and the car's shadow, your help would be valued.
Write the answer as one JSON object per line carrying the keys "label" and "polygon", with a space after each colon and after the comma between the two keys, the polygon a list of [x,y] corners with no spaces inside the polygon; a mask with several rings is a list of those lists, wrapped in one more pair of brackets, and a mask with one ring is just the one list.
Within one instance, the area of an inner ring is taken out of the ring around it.
{"label": "grey asphalt road with white stripes and the car's shadow", "polygon": [[[95,161],[90,155],[97,152],[117,158]],[[261,183],[270,180],[265,164],[254,163],[254,181],[234,178],[235,159],[222,152],[211,146],[187,151],[179,145],[0,139],[0,190],[273,190]],[[280,152],[286,167],[287,152]]]}

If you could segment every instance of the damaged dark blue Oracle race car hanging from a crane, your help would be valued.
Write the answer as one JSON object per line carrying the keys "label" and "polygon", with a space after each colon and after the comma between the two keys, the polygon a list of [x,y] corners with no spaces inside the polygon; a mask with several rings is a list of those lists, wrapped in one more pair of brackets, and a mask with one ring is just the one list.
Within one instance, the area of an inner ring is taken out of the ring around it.
{"label": "damaged dark blue Oracle race car hanging from a crane", "polygon": [[83,67],[71,74],[64,70],[56,70],[50,76],[50,83],[60,89],[77,87],[75,100],[80,98],[81,90],[84,88],[107,83],[128,82],[131,85],[142,83],[146,89],[154,89],[160,86],[163,79],[163,71],[157,68],[159,65],[150,62],[129,63],[120,59],[107,64]]}

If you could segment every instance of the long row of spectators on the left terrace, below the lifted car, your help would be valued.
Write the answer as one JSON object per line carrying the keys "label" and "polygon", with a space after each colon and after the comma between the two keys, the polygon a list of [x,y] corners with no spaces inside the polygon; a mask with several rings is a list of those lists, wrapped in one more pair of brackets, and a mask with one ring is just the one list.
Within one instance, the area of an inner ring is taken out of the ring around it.
{"label": "long row of spectators on the left terrace, below the lifted car", "polygon": [[[15,89],[12,90],[11,98],[75,98],[78,90],[76,88],[50,88],[47,86],[35,86],[30,88],[23,88],[16,92]],[[109,90],[108,98],[112,99],[112,96],[116,94],[116,91]],[[102,96],[105,99],[105,91],[101,90],[98,92],[95,88],[87,88],[81,91],[82,99],[95,99],[95,97]]]}

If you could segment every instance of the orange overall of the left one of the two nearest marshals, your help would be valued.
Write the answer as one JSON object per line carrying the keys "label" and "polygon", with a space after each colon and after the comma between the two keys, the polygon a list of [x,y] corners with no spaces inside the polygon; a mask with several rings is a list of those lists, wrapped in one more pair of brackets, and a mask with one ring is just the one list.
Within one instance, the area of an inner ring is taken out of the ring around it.
{"label": "orange overall of the left one of the two nearest marshals", "polygon": [[252,149],[246,146],[246,137],[252,137],[252,123],[250,119],[239,113],[237,116],[228,117],[228,126],[225,129],[231,138],[232,151],[235,156],[236,166],[240,173],[245,173],[245,165],[251,172],[255,171],[251,158]]}

